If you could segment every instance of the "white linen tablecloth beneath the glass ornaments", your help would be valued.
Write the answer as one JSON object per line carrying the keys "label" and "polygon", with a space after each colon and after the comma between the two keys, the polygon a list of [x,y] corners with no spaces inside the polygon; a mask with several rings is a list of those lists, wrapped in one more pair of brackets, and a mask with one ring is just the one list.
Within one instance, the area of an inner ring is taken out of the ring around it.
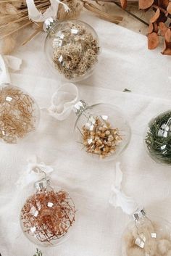
{"label": "white linen tablecloth beneath the glass ornaments", "polygon": [[[78,83],[80,99],[109,102],[125,112],[132,129],[128,148],[119,161],[123,188],[148,212],[171,222],[170,167],[156,164],[146,153],[143,135],[154,115],[170,109],[170,57],[161,49],[146,49],[146,36],[138,35],[91,15],[83,15],[99,33],[102,52],[95,73]],[[43,54],[45,34],[14,52],[23,59],[22,70],[12,75],[14,85],[25,88],[41,108],[49,107],[61,81],[51,73]],[[124,88],[132,92],[122,92]],[[1,256],[33,256],[36,245],[22,234],[20,209],[33,186],[17,189],[27,160],[37,155],[54,167],[55,185],[66,189],[78,210],[72,235],[59,247],[42,248],[43,256],[121,256],[121,236],[129,218],[109,205],[115,162],[88,160],[75,142],[74,113],[62,122],[41,111],[36,133],[17,145],[0,144],[0,252]]]}

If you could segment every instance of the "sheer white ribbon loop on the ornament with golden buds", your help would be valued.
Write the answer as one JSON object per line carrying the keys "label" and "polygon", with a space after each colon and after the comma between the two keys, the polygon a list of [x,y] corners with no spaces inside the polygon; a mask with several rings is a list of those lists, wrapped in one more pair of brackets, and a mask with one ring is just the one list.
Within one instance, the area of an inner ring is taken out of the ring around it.
{"label": "sheer white ribbon loop on the ornament with golden buds", "polygon": [[57,120],[65,120],[78,102],[78,88],[74,83],[65,83],[60,86],[51,98],[49,114]]}

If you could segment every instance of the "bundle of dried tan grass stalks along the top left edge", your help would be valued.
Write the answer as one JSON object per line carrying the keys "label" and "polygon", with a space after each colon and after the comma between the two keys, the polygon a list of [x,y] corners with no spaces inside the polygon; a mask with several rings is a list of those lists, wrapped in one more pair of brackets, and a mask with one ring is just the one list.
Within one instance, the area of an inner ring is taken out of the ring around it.
{"label": "bundle of dried tan grass stalks along the top left edge", "polygon": [[[59,4],[59,10],[57,18],[59,20],[75,19],[78,18],[83,7],[98,15],[104,20],[110,22],[119,23],[122,20],[120,16],[109,15],[101,10],[101,7],[97,7],[91,4],[91,1],[84,0],[62,0],[70,7],[70,12],[65,12],[62,4]],[[45,12],[50,6],[49,0],[35,0],[36,7]],[[100,6],[100,5],[99,5]],[[0,54],[9,54],[16,45],[16,39],[22,28],[27,28],[33,22],[28,18],[28,8],[25,0],[0,0]],[[36,31],[26,38],[24,44],[26,44],[33,36],[41,31],[42,23],[38,22]]]}

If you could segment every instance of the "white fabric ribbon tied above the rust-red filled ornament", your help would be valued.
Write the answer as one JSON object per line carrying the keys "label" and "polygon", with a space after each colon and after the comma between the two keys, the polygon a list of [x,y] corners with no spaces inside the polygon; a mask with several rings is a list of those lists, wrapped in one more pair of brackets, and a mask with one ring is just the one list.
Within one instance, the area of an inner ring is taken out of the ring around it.
{"label": "white fabric ribbon tied above the rust-red filled ornament", "polygon": [[53,171],[54,169],[50,165],[46,165],[44,162],[38,162],[37,157],[32,157],[32,159],[28,160],[25,173],[20,176],[16,185],[23,189],[30,183],[34,183],[45,178],[47,174],[50,175]]}

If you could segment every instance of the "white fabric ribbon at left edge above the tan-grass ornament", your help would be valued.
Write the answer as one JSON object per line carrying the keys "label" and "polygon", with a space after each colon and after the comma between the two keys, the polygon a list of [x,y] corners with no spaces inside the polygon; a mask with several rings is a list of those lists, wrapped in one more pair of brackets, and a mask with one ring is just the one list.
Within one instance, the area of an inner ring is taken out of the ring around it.
{"label": "white fabric ribbon at left edge above the tan-grass ornament", "polygon": [[0,85],[2,83],[11,83],[9,76],[9,68],[11,70],[20,70],[20,65],[22,64],[22,59],[13,56],[2,56],[0,54]]}

